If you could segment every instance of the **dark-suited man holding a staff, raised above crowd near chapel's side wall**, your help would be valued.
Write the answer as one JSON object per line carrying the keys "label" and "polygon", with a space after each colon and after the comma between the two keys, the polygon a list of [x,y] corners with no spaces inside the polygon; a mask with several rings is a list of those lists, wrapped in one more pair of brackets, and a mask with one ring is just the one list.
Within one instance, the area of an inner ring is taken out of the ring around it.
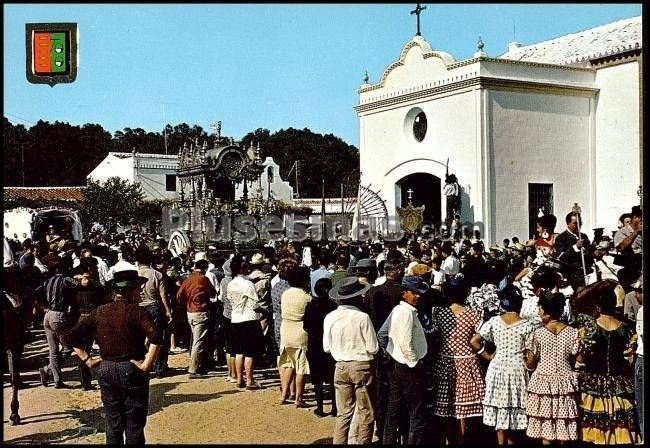
{"label": "dark-suited man holding a staff, raised above crowd near chapel's side wall", "polygon": [[593,250],[589,238],[584,233],[578,235],[578,226],[582,227],[580,215],[574,212],[566,215],[566,230],[555,238],[557,258],[567,265],[564,274],[569,278],[574,290],[585,285],[585,273],[582,269],[581,249],[584,249],[587,274],[592,271]]}

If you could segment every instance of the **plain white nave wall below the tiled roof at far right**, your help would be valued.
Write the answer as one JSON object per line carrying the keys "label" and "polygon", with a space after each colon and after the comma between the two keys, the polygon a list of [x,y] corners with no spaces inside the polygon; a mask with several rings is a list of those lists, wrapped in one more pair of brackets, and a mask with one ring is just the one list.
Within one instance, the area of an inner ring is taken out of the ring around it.
{"label": "plain white nave wall below the tiled roof at far right", "polygon": [[639,66],[599,68],[596,84],[596,227],[616,230],[618,217],[639,204]]}

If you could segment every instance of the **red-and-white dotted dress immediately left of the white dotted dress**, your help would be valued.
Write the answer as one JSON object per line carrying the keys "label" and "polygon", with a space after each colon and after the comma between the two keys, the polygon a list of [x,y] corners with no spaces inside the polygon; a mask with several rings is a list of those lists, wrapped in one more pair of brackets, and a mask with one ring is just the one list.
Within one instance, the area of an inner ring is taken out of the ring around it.
{"label": "red-and-white dotted dress immediately left of the white dotted dress", "polygon": [[433,308],[434,329],[441,339],[433,366],[433,413],[437,416],[461,419],[483,415],[485,381],[469,344],[480,319],[469,309],[456,316],[447,307]]}

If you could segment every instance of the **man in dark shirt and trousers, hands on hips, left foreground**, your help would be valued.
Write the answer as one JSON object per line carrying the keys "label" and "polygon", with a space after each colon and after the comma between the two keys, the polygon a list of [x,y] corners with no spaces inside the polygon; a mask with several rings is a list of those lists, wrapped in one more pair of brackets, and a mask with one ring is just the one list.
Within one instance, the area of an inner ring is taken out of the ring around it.
{"label": "man in dark shirt and trousers, hands on hips, left foreground", "polygon": [[[98,367],[108,445],[145,443],[149,371],[162,344],[153,319],[138,306],[140,287],[146,281],[135,266],[118,262],[113,269],[115,301],[96,308],[63,335],[88,367]],[[95,335],[99,357],[84,348],[90,335]],[[145,338],[149,340],[146,354]]]}

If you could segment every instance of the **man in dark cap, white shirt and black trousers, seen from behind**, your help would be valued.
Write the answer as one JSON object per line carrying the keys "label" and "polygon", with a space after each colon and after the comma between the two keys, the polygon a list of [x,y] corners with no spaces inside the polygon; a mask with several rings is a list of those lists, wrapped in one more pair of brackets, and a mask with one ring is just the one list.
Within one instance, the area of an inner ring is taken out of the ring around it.
{"label": "man in dark cap, white shirt and black trousers, seen from behind", "polygon": [[405,276],[401,287],[402,301],[393,308],[379,330],[382,347],[385,343],[386,352],[394,361],[382,443],[397,443],[399,414],[402,405],[406,405],[409,413],[407,444],[419,445],[424,441],[427,423],[424,404],[426,380],[421,362],[427,354],[427,341],[416,306],[421,295],[429,290],[429,285],[420,277]]}

